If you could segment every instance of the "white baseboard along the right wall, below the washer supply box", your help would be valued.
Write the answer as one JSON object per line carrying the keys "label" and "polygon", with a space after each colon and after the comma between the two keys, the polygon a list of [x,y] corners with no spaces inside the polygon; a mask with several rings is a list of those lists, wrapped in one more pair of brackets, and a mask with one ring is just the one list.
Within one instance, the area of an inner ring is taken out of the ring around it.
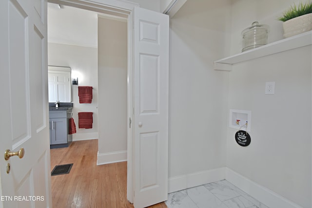
{"label": "white baseboard along the right wall, below the washer supply box", "polygon": [[278,195],[270,189],[267,189],[239,173],[226,169],[225,179],[239,189],[242,189],[261,203],[270,208],[302,208],[288,199]]}

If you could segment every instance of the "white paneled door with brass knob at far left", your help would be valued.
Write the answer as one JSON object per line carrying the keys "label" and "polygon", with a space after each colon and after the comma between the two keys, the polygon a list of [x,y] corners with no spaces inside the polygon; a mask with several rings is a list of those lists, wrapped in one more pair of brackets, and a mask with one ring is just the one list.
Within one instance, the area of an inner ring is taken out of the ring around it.
{"label": "white paneled door with brass knob at far left", "polygon": [[0,1],[0,151],[25,150],[0,155],[4,208],[52,207],[46,12],[46,0]]}

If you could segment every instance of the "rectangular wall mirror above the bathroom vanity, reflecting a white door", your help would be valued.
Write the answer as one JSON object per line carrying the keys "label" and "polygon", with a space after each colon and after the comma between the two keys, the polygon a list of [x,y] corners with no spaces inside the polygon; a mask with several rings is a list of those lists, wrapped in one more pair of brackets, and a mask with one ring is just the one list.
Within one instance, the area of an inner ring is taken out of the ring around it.
{"label": "rectangular wall mirror above the bathroom vanity, reflecting a white door", "polygon": [[49,102],[72,102],[71,68],[48,66]]}

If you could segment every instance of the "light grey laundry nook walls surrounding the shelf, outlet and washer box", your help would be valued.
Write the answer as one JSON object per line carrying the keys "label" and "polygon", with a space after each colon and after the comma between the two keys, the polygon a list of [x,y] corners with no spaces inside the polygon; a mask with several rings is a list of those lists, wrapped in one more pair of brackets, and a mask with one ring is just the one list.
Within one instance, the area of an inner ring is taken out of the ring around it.
{"label": "light grey laundry nook walls surrounding the shelf, outlet and washer box", "polygon": [[[212,69],[214,60],[241,52],[241,31],[255,20],[270,25],[269,42],[282,39],[276,18],[292,3],[193,0],[171,19],[169,186],[205,170],[225,177],[227,167],[289,207],[311,208],[311,46],[230,73]],[[276,82],[275,95],[264,94],[267,81]],[[252,111],[247,148],[228,128],[229,109]]]}

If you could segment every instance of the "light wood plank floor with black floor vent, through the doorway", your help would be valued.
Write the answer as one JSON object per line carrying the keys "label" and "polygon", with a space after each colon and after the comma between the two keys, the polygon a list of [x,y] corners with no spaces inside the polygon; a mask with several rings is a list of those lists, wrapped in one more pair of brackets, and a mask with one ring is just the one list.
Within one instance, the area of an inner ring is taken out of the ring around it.
{"label": "light wood plank floor with black floor vent, through the doorway", "polygon": [[74,163],[69,174],[52,176],[54,208],[134,208],[127,200],[127,162],[97,166],[97,152],[97,139],[51,149],[51,171],[56,165]]}

